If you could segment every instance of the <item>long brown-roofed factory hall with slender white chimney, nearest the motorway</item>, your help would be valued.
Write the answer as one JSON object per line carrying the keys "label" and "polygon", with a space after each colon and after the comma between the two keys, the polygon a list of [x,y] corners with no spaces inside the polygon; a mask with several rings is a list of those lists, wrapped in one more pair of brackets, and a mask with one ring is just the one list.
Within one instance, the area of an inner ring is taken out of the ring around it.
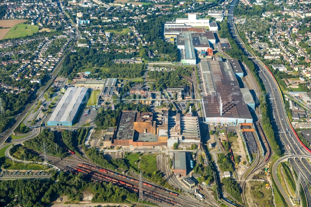
{"label": "long brown-roofed factory hall with slender white chimney, nearest the motorway", "polygon": [[240,70],[231,63],[216,56],[200,62],[202,105],[208,124],[234,126],[253,122],[236,78],[235,72]]}

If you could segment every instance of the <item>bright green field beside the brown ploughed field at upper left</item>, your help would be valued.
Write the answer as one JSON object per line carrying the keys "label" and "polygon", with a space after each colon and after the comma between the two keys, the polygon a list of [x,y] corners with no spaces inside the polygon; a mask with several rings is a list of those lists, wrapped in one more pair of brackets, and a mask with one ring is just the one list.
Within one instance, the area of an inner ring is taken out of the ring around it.
{"label": "bright green field beside the brown ploughed field at upper left", "polygon": [[11,30],[4,36],[3,39],[12,39],[18,37],[26,37],[26,35],[32,35],[39,31],[38,25],[17,24],[11,28]]}

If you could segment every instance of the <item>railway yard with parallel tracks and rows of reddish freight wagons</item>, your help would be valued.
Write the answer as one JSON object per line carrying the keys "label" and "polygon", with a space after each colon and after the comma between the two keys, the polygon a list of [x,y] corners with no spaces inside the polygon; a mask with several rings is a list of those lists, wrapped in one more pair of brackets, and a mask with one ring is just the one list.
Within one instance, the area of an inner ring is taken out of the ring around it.
{"label": "railway yard with parallel tracks and rows of reddish freight wagons", "polygon": [[[51,164],[67,172],[81,172],[86,178],[92,179],[94,182],[112,182],[113,184],[123,186],[130,191],[138,192],[138,177],[134,178],[109,169],[98,167],[94,163],[86,161],[75,154],[71,154],[63,159],[50,155],[47,155],[47,158]],[[175,191],[151,183],[146,179],[142,180],[144,196],[146,196],[147,200],[152,201],[152,203],[156,203],[159,206],[180,206],[178,204],[191,207],[217,206],[201,203],[190,195],[179,194]]]}

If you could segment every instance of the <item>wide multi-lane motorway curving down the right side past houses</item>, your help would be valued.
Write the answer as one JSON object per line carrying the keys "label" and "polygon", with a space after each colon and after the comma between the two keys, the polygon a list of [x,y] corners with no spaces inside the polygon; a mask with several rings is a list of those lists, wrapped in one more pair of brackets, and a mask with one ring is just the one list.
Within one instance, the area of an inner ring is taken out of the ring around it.
{"label": "wide multi-lane motorway curving down the right side past houses", "polygon": [[[240,45],[241,49],[244,51],[246,56],[249,56],[251,54],[251,51],[248,51],[246,48],[241,46],[243,43],[239,39],[239,36],[237,34],[237,31],[234,29],[234,19],[233,19],[233,8],[234,5],[238,2],[238,0],[234,0],[231,5],[228,12],[228,27],[230,34],[232,35],[233,39],[236,41],[238,45]],[[281,91],[279,90],[279,86],[276,84],[276,81],[272,74],[268,71],[266,67],[263,66],[262,62],[259,62],[258,60],[252,59],[255,66],[258,67],[259,76],[261,77],[266,91],[267,96],[270,100],[270,107],[271,107],[271,114],[272,114],[272,126],[274,127],[275,136],[276,139],[279,139],[282,143],[283,150],[285,153],[288,154],[295,154],[295,155],[309,155],[309,152],[304,150],[304,148],[299,145],[299,142],[297,141],[297,138],[295,137],[294,131],[292,131],[291,127],[288,123],[288,117],[285,112],[285,106],[283,102],[283,96],[281,94]],[[264,96],[265,98],[265,96]],[[288,147],[289,146],[289,147]],[[304,188],[304,192],[307,197],[307,203],[308,206],[311,205],[311,194],[309,191],[309,185],[310,185],[310,177],[311,177],[311,165],[309,161],[305,158],[290,158],[291,164],[297,174],[301,173],[301,184]],[[274,177],[277,179],[277,177]],[[282,189],[282,186],[278,186]],[[289,205],[293,205],[291,202]]]}

